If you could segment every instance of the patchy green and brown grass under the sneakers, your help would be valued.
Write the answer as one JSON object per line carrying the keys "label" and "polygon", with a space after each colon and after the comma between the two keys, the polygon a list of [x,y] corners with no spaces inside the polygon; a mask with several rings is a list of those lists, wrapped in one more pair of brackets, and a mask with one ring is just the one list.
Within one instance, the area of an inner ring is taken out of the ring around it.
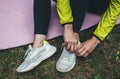
{"label": "patchy green and brown grass under the sneakers", "polygon": [[[89,39],[93,31],[94,28],[82,31],[81,41]],[[77,57],[76,66],[68,73],[59,73],[55,69],[62,41],[62,37],[49,40],[50,44],[57,47],[56,54],[27,73],[16,72],[23,61],[27,45],[1,50],[0,79],[120,79],[120,25],[113,29],[91,55],[86,58]]]}

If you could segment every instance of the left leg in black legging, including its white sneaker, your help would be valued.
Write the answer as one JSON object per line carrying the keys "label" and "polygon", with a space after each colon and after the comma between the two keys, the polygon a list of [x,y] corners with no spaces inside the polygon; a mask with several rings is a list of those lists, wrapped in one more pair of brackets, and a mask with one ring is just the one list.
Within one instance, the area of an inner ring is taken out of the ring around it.
{"label": "left leg in black legging, including its white sneaker", "polygon": [[[44,41],[50,21],[50,0],[34,0],[35,37],[33,47],[29,45],[24,62],[16,69],[17,72],[27,72],[38,66],[43,60],[56,52],[56,47]],[[44,46],[43,46],[44,41]]]}

